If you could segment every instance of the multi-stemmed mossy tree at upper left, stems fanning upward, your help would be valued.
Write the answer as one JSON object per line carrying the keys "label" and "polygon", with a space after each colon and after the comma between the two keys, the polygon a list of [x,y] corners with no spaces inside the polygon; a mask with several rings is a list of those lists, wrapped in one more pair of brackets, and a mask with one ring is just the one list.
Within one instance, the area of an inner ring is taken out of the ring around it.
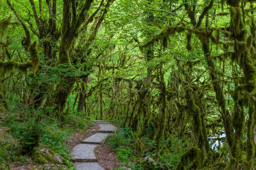
{"label": "multi-stemmed mossy tree at upper left, stems fanning upward", "polygon": [[[18,13],[15,11],[13,5],[10,3],[9,0],[6,0],[8,6],[10,9],[14,12],[15,16],[21,23],[26,37],[21,41],[21,45],[24,46],[25,51],[28,51],[28,47],[30,45],[31,37],[30,37],[30,32],[29,29],[27,28],[26,24],[24,23],[25,21],[28,23],[30,30],[32,33],[38,37],[38,42],[40,43],[39,46],[40,48],[43,48],[43,53],[47,59],[53,59],[56,57],[56,53],[52,53],[52,48],[56,43],[56,12],[57,12],[57,5],[56,5],[56,0],[53,0],[52,3],[50,0],[46,0],[46,5],[49,10],[49,18],[48,20],[43,19],[42,16],[42,1],[39,1],[39,14],[38,11],[36,10],[35,2],[34,0],[29,0],[31,4],[31,8],[33,11],[35,23],[36,23],[36,30],[33,27],[33,24],[30,20],[24,20],[21,19],[21,17],[18,15]],[[23,21],[24,20],[24,21]],[[48,23],[46,25],[46,23]],[[50,39],[49,39],[50,37]],[[57,37],[58,39],[58,37]],[[51,62],[48,62],[48,65],[51,65]],[[44,71],[39,68],[39,71]],[[38,76],[34,76],[33,78],[37,78]],[[40,105],[42,104],[44,97],[46,94],[49,94],[47,92],[47,84],[44,81],[40,81],[37,83],[33,83],[30,87],[30,92],[29,92],[29,99],[24,100],[24,103],[29,104],[33,103],[35,108],[39,108]]]}

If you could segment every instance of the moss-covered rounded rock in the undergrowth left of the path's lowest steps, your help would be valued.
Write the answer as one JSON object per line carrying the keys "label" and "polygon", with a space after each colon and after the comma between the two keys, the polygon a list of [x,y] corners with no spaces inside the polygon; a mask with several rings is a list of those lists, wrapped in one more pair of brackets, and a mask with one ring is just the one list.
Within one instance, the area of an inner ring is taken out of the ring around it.
{"label": "moss-covered rounded rock in the undergrowth left of the path's lowest steps", "polygon": [[55,153],[49,149],[41,149],[34,153],[33,160],[36,163],[52,163],[52,164],[63,164],[64,158],[58,153]]}

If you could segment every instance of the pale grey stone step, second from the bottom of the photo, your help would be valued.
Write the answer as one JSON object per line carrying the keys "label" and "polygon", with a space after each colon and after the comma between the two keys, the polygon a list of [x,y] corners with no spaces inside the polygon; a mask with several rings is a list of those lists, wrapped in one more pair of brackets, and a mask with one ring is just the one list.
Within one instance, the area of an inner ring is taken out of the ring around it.
{"label": "pale grey stone step, second from the bottom of the photo", "polygon": [[75,162],[97,162],[93,150],[98,145],[79,144],[71,151],[72,158]]}

